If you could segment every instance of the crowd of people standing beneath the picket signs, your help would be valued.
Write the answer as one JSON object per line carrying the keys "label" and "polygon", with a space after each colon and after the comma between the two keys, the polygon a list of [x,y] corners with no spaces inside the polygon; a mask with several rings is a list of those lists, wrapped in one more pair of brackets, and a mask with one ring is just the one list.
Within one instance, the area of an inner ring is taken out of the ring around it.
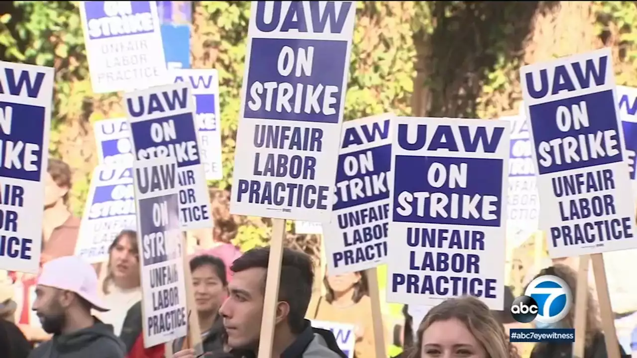
{"label": "crowd of people standing beneath the picket signs", "polygon": [[[136,232],[121,231],[108,248],[104,264],[90,265],[73,256],[80,220],[67,205],[71,171],[64,162],[50,159],[47,172],[41,271],[37,276],[6,273],[0,282],[2,357],[256,357],[269,247],[241,254],[227,244],[194,252],[189,263],[201,347],[189,347],[180,338],[168,349],[166,345],[145,348]],[[283,251],[272,356],[347,357],[331,331],[310,324],[310,320],[324,320],[354,324],[354,357],[374,357],[366,275],[328,272],[315,276],[314,268],[303,252]],[[576,291],[576,273],[566,264],[552,264],[536,273],[540,275],[558,276]],[[315,280],[322,280],[324,294],[313,290]],[[605,340],[590,292],[587,301],[583,358],[603,358]],[[512,290],[505,287],[504,311],[490,311],[473,297],[448,299],[431,308],[404,306],[404,322],[396,327],[399,334],[394,338],[403,347],[399,357],[518,358],[518,348],[508,340],[508,329],[531,324],[513,319],[506,310],[512,302]],[[571,310],[551,327],[573,328],[573,314]],[[206,355],[196,355],[197,351]],[[531,358],[571,354],[571,344],[539,343]]]}

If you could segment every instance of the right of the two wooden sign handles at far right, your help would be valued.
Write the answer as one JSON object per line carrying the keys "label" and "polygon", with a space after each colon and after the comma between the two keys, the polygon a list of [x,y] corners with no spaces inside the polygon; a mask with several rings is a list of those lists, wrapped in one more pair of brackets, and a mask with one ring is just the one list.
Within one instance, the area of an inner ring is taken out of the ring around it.
{"label": "right of the two wooden sign handles at far right", "polygon": [[602,254],[592,254],[590,255],[590,260],[593,264],[595,286],[598,291],[599,313],[601,315],[601,327],[606,343],[606,355],[608,358],[620,358],[619,341],[617,341],[615,321],[613,320],[613,309],[610,306],[610,296],[608,295],[604,257]]}

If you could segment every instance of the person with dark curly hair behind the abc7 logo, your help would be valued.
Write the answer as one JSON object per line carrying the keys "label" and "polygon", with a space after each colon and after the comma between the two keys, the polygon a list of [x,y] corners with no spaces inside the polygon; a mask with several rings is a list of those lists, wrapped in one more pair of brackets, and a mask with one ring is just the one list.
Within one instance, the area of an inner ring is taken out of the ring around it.
{"label": "person with dark curly hair behind the abc7 logo", "polygon": [[[538,273],[533,279],[540,276],[550,275],[557,276],[564,280],[571,292],[577,292],[577,273],[574,269],[564,264],[555,264],[549,268],[545,268]],[[525,289],[526,290],[526,289]],[[575,307],[575,294],[573,294],[573,305]],[[584,343],[584,358],[606,358],[606,343],[604,341],[604,333],[601,330],[601,322],[599,321],[599,311],[597,301],[593,298],[592,292],[586,295],[586,333]],[[536,328],[574,328],[575,327],[575,309],[568,311],[566,317],[557,323],[545,325],[535,321]],[[619,347],[620,354],[626,355],[624,348]],[[533,347],[531,358],[554,358],[554,357],[570,357],[573,353],[573,345],[571,343],[547,343],[541,342]]]}

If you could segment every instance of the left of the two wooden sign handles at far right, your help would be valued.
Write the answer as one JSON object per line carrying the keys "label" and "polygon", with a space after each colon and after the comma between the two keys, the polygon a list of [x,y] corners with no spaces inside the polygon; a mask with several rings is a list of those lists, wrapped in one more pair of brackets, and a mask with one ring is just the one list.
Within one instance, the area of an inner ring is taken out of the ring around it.
{"label": "left of the two wooden sign handles at far right", "polygon": [[580,256],[580,267],[577,270],[577,292],[575,292],[575,343],[573,358],[584,358],[586,346],[586,312],[589,293],[590,255]]}

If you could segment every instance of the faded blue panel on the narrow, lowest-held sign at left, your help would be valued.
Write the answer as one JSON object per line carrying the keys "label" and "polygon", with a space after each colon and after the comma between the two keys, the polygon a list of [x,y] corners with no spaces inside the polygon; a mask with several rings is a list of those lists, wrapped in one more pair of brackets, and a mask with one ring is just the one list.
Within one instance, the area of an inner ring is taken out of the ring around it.
{"label": "faded blue panel on the narrow, lowest-held sign at left", "polygon": [[[179,229],[178,215],[169,210],[179,207],[176,194],[139,199],[138,215],[140,220],[141,256],[144,266],[168,261],[168,247],[164,233]],[[154,220],[159,220],[155,225]]]}

